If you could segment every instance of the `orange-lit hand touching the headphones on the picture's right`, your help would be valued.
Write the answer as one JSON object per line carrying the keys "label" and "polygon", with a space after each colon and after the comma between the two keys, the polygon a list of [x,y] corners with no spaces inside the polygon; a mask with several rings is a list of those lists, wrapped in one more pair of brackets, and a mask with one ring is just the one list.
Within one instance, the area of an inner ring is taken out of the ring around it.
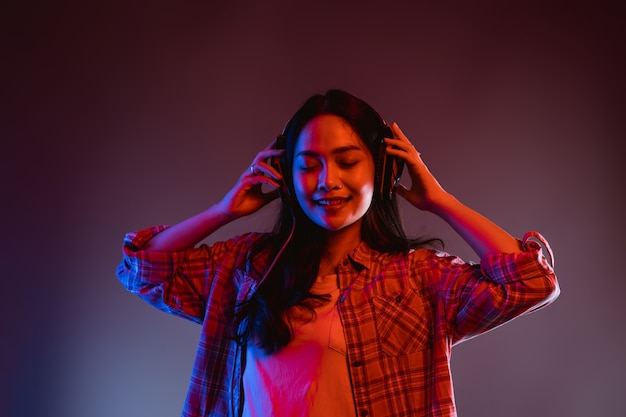
{"label": "orange-lit hand touching the headphones on the picture's right", "polygon": [[420,153],[398,125],[394,123],[390,127],[394,138],[385,138],[387,153],[403,159],[411,177],[411,187],[398,184],[396,192],[420,210],[436,211],[449,197],[448,193],[428,170]]}

